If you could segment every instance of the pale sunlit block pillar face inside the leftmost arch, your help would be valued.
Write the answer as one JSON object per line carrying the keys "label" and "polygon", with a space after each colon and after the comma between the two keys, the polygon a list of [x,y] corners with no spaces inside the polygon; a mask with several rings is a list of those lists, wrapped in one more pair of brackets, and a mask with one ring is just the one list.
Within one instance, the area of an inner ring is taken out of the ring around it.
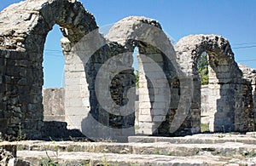
{"label": "pale sunlit block pillar face inside the leftmost arch", "polygon": [[67,38],[61,39],[65,57],[65,121],[67,129],[82,129],[81,122],[90,112],[88,83],[84,62],[73,52]]}

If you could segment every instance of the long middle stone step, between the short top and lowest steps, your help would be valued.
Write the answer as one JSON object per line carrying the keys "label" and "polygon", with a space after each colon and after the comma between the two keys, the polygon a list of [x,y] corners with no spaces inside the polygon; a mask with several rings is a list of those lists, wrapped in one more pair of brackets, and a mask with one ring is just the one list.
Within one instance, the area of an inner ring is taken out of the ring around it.
{"label": "long middle stone step, between the short top and lowest steps", "polygon": [[241,142],[216,144],[172,144],[154,143],[114,143],[114,142],[73,142],[73,141],[21,141],[17,142],[19,151],[56,151],[56,152],[96,152],[119,154],[158,154],[166,156],[195,156],[199,154],[220,155],[224,157],[255,156],[256,145]]}

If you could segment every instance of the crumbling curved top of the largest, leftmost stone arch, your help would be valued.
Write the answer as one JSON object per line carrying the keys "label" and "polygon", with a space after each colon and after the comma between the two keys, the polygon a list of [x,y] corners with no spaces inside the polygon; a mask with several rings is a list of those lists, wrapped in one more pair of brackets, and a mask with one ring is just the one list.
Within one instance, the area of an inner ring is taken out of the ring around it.
{"label": "crumbling curved top of the largest, leftmost stone arch", "polygon": [[27,0],[15,3],[0,13],[0,49],[25,51],[31,38],[42,38],[55,24],[64,37],[78,42],[97,28],[95,18],[79,2],[69,0]]}

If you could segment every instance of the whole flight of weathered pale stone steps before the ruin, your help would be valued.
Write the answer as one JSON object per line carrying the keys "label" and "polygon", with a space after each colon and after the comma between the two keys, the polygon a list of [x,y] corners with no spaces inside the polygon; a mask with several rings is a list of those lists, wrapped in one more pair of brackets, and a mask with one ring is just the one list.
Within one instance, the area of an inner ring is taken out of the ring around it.
{"label": "whole flight of weathered pale stone steps before the ruin", "polygon": [[31,165],[256,165],[256,133],[131,136],[129,143],[26,140],[17,157]]}

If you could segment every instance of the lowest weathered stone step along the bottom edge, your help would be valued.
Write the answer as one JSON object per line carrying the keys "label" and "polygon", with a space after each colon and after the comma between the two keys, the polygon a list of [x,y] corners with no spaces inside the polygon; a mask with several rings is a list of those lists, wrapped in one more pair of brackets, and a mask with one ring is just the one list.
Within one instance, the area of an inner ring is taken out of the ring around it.
{"label": "lowest weathered stone step along the bottom edge", "polygon": [[239,164],[253,165],[256,158],[234,159],[216,156],[192,156],[172,157],[163,155],[137,155],[137,154],[113,154],[113,153],[92,153],[92,152],[52,152],[52,151],[18,151],[20,159],[26,160],[32,165],[58,163],[58,165],[88,165],[88,166],[170,166],[170,165],[226,165],[238,166]]}

